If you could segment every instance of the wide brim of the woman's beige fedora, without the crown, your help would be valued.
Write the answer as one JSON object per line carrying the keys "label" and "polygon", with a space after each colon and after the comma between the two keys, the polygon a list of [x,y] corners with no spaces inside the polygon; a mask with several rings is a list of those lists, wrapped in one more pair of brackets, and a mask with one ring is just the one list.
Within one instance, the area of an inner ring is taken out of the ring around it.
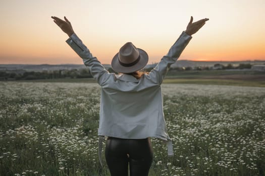
{"label": "wide brim of the woman's beige fedora, without the crown", "polygon": [[119,53],[117,53],[112,59],[113,70],[120,73],[132,73],[142,69],[148,62],[148,54],[140,48],[137,49],[139,51],[140,59],[135,65],[132,66],[121,65],[119,62]]}

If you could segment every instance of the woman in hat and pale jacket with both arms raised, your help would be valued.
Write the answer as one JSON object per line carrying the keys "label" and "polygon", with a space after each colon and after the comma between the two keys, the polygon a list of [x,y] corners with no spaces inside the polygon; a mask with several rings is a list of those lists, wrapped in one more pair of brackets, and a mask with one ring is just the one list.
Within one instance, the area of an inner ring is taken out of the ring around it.
{"label": "woman in hat and pale jacket with both arms raised", "polygon": [[112,60],[113,69],[122,73],[115,74],[105,70],[92,56],[66,17],[65,21],[51,18],[70,37],[66,42],[83,59],[101,86],[98,135],[108,136],[105,159],[111,175],[128,175],[128,165],[131,176],[148,175],[153,157],[149,137],[168,141],[168,154],[173,155],[163,113],[162,81],[170,65],[176,62],[189,43],[191,35],[208,19],[192,23],[191,17],[186,31],[149,73],[139,72],[148,62],[147,53],[131,42],[126,43]]}

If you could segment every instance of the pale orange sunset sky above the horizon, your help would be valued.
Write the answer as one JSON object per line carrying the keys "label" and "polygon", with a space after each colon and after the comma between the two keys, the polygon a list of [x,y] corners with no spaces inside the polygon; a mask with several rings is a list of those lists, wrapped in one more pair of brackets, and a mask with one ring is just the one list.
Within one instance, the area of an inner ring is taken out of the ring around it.
{"label": "pale orange sunset sky above the horizon", "polygon": [[128,41],[160,61],[190,16],[209,21],[180,59],[265,60],[264,10],[264,0],[1,0],[0,64],[82,64],[50,16],[66,16],[103,64]]}

